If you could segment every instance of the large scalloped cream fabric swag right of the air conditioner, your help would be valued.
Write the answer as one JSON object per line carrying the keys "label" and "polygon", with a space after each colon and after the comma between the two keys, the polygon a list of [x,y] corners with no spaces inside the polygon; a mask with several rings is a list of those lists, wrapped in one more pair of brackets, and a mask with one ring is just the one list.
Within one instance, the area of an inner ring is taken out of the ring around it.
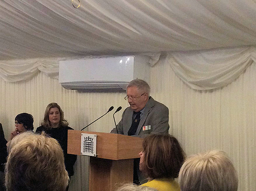
{"label": "large scalloped cream fabric swag right of the air conditioner", "polygon": [[166,61],[190,88],[208,90],[236,80],[253,63],[256,48],[242,47],[169,53]]}

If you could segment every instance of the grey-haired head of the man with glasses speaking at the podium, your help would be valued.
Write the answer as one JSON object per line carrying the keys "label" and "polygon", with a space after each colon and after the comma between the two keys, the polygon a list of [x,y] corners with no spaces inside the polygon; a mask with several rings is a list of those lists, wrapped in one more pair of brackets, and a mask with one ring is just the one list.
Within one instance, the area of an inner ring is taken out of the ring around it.
{"label": "grey-haired head of the man with glasses speaking at the podium", "polygon": [[142,110],[149,99],[150,87],[143,80],[135,79],[130,81],[126,87],[126,100],[128,100],[132,110],[139,112]]}

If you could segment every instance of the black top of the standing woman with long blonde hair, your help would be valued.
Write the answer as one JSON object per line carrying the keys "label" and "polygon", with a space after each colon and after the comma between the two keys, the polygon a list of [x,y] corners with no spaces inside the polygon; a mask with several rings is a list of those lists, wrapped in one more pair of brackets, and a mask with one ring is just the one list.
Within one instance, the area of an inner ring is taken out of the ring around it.
{"label": "black top of the standing woman with long blonde hair", "polygon": [[56,139],[64,153],[64,161],[65,167],[68,171],[68,176],[74,175],[74,163],[76,162],[76,155],[68,154],[68,130],[74,130],[68,126],[60,126],[58,128],[44,128],[44,126],[40,126],[36,129],[36,133],[41,133],[42,131],[46,132],[46,134],[54,139]]}

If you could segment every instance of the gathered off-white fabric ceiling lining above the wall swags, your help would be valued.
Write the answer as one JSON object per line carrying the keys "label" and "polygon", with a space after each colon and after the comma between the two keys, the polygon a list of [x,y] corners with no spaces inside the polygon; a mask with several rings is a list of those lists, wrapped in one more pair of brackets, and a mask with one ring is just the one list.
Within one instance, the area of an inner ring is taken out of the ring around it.
{"label": "gathered off-white fabric ceiling lining above the wall swags", "polygon": [[0,60],[256,45],[256,2],[1,0]]}

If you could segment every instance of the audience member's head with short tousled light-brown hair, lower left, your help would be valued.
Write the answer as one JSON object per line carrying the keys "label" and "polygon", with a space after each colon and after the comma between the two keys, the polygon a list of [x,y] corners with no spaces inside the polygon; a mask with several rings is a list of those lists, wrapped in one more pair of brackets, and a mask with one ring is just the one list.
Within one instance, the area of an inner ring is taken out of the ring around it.
{"label": "audience member's head with short tousled light-brown hair, lower left", "polygon": [[60,144],[50,137],[24,132],[8,146],[7,191],[65,191],[68,172]]}

